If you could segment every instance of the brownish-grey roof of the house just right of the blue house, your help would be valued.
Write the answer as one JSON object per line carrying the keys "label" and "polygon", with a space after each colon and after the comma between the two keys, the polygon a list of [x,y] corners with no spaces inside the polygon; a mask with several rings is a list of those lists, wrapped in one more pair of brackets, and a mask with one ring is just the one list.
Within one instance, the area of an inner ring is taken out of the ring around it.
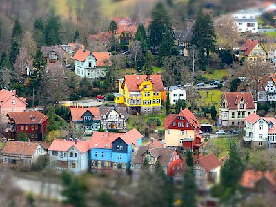
{"label": "brownish-grey roof of the house just right of the blue house", "polygon": [[[146,152],[149,152],[153,157],[157,157],[157,161],[155,164],[160,162],[161,166],[169,166],[170,161],[172,160],[172,156],[175,154],[175,148],[151,148],[149,149],[148,146],[139,146],[135,157],[132,160],[132,163],[135,164],[142,164],[143,163],[143,155]],[[179,159],[181,157],[179,156]]]}

